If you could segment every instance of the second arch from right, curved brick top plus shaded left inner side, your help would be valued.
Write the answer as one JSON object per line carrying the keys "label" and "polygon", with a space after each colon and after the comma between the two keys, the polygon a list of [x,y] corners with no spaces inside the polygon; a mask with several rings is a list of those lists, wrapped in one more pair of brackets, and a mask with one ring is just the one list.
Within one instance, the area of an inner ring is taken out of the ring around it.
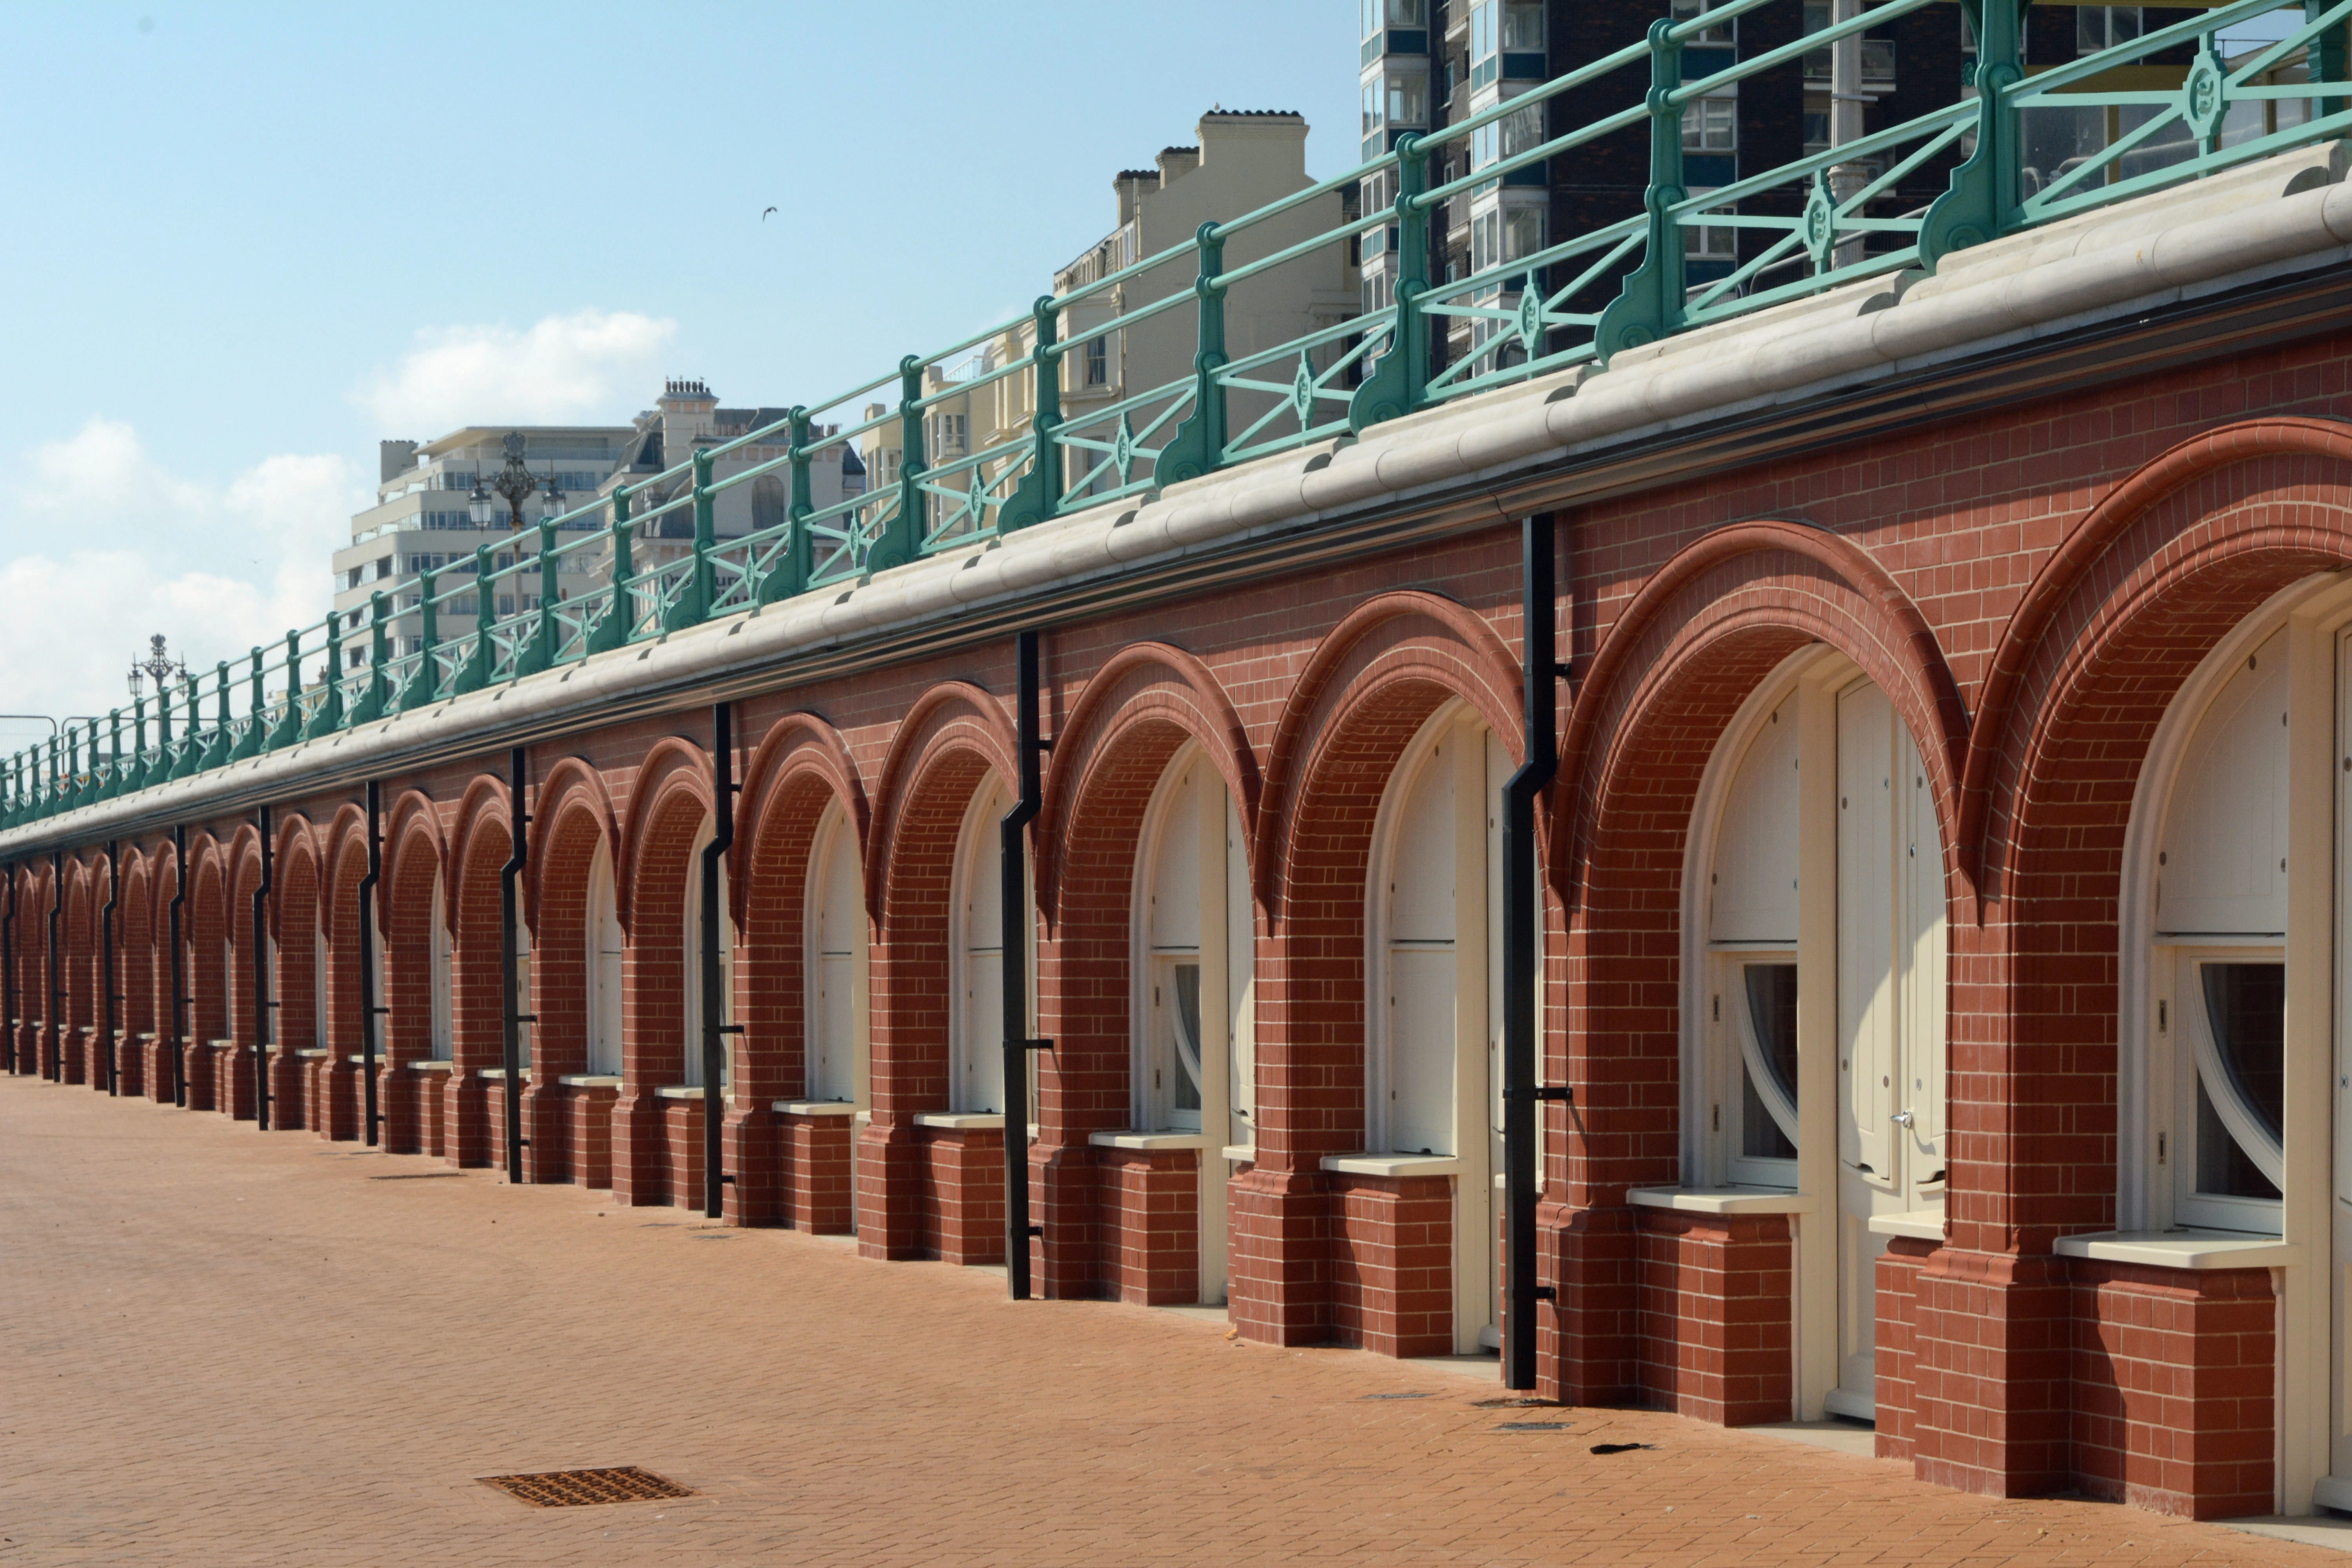
{"label": "second arch from right, curved brick top plus shaded left inner side", "polygon": [[[1959,698],[1919,611],[1851,541],[1750,522],[1691,545],[1609,628],[1576,693],[1550,875],[1569,907],[1578,1128],[1566,1199],[1623,1204],[1682,1166],[1682,877],[1698,785],[1726,726],[1790,654],[1844,654],[1917,738],[1952,886]],[[1632,983],[1639,980],[1639,983]]]}

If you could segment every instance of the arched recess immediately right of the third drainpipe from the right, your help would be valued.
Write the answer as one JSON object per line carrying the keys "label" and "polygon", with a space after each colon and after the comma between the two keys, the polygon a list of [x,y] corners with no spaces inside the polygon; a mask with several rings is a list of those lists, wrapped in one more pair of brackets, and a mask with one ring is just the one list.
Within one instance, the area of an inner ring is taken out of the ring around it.
{"label": "arched recess immediately right of the third drainpipe from the right", "polygon": [[[743,933],[743,994],[762,1030],[743,1039],[743,1093],[764,1100],[835,1100],[863,1103],[858,1081],[858,1044],[863,1004],[856,997],[856,973],[866,961],[866,790],[858,783],[849,748],[840,733],[814,715],[788,715],[762,738],[746,769],[743,818],[736,830],[734,877],[736,919]],[[840,860],[842,849],[851,856]],[[823,863],[818,863],[823,860]],[[816,926],[826,910],[833,879],[849,875],[847,903],[851,929],[826,938]],[[811,882],[811,877],[816,882]],[[830,978],[823,943],[842,943],[847,971]],[[821,997],[818,992],[828,992]],[[828,1006],[847,1030],[828,1032]],[[811,1044],[844,1037],[847,1058],[837,1072],[811,1074]],[[818,1081],[823,1079],[823,1081]]]}

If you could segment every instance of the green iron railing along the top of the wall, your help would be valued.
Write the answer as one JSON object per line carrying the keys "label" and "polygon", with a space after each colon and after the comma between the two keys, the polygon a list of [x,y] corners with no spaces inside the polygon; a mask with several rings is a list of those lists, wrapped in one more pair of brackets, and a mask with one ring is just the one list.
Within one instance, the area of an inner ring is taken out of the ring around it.
{"label": "green iron railing along the top of the wall", "polygon": [[[158,691],[153,715],[139,698],[129,715],[68,726],[0,764],[0,825],[374,724],[1456,397],[1606,364],[1625,348],[1788,299],[1933,270],[1943,256],[2004,233],[2352,132],[2352,89],[2317,92],[2347,78],[2352,0],[2241,0],[2034,71],[2023,59],[2030,0],[1959,0],[1976,56],[1950,61],[1950,103],[1693,193],[1684,127],[1703,99],[1952,0],[1877,0],[1856,19],[1748,59],[1724,49],[1726,28],[1766,2],[1719,0],[1698,16],[1661,16],[1644,40],[1432,136],[1404,136],[1336,179],[1202,223],[1181,244],[1042,296],[1021,320],[908,355],[873,381],[548,517],[503,548],[485,545],[470,564],[426,571],[409,604],[379,592],[360,614],[329,616],[287,632],[278,649],[252,649],[209,677]],[[2223,59],[2223,33],[2281,9],[2298,19],[2279,42]],[[1569,92],[1597,96],[1602,110],[1430,183],[1439,148],[1531,106],[1550,113]],[[1446,202],[1628,136],[1649,143],[1637,202],[1468,277],[1432,277],[1428,230]],[[1924,202],[1903,195],[1905,183],[1917,193],[1922,181],[1940,190]],[[1348,190],[1376,190],[1383,205],[1324,223]],[[1312,233],[1275,228],[1301,212]],[[1731,266],[1693,268],[1693,249],[1710,254],[1693,247],[1705,230],[1743,237]],[[1381,310],[1228,353],[1225,308],[1237,289],[1390,235],[1395,299]],[[1228,263],[1228,254],[1247,259]],[[1115,400],[1068,397],[1089,343],[1160,317],[1190,324],[1190,371],[1122,388]],[[1011,397],[1025,418],[1004,421],[969,449],[931,454],[927,421],[943,411],[971,416],[983,397]],[[717,473],[722,458],[774,444],[783,456]],[[818,461],[884,449],[896,451],[894,477],[870,473],[863,494],[814,503]],[[717,498],[771,475],[790,496],[786,520],[722,538]],[[654,538],[663,550],[682,548],[640,567]],[[583,559],[600,562],[600,581],[567,595],[560,576],[567,567],[583,576]],[[513,609],[501,614],[508,602]],[[409,614],[423,635],[416,649],[395,654],[390,625]],[[473,625],[442,637],[442,616],[470,616]],[[346,649],[365,649],[365,663],[350,665]],[[308,684],[306,656],[325,661],[322,677]]]}

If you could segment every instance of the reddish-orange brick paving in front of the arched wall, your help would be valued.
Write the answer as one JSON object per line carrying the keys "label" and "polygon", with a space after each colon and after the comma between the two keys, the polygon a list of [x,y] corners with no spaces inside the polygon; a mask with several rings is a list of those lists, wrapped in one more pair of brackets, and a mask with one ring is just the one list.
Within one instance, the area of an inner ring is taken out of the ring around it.
{"label": "reddish-orange brick paving in front of the arched wall", "polygon": [[2340,1561],[447,1171],[0,1079],[0,1563]]}

